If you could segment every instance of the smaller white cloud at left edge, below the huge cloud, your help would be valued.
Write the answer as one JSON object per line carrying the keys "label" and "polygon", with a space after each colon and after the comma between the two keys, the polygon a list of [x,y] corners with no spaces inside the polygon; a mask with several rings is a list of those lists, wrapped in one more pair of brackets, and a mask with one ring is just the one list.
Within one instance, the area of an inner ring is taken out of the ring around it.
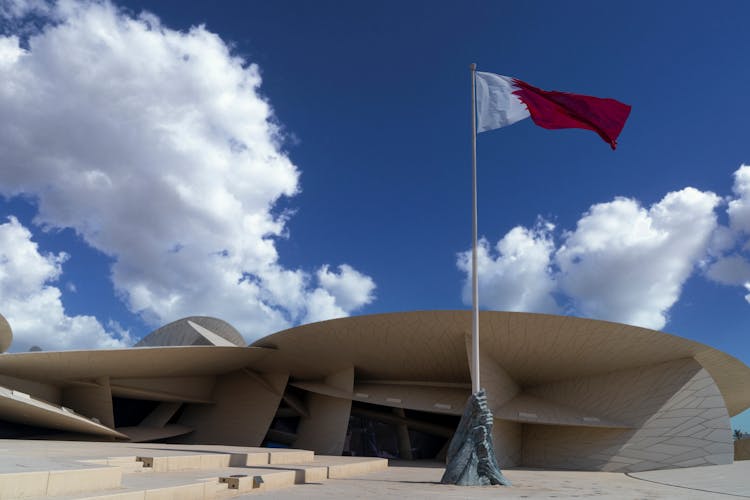
{"label": "smaller white cloud at left edge, below the huge cloud", "polygon": [[105,329],[93,316],[68,316],[54,286],[67,255],[39,252],[31,232],[11,217],[0,224],[0,304],[13,330],[11,351],[116,348],[129,332]]}

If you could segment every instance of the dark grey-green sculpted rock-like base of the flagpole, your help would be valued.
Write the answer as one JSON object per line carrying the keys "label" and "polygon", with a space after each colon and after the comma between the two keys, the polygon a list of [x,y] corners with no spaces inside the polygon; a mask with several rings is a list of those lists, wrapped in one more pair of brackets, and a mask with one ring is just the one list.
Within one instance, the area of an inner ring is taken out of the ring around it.
{"label": "dark grey-green sculpted rock-like base of the flagpole", "polygon": [[484,390],[466,402],[458,429],[448,447],[443,484],[459,486],[510,486],[495,459],[492,443],[492,412]]}

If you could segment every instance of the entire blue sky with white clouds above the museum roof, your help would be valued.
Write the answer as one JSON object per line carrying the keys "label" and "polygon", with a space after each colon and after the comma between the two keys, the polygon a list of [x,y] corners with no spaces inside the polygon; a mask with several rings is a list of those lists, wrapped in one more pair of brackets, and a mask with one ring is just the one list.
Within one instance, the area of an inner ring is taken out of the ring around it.
{"label": "entire blue sky with white clouds above the museum roof", "polygon": [[252,339],[467,307],[476,62],[633,107],[615,152],[530,120],[479,136],[483,306],[642,324],[750,363],[746,2],[0,5],[17,37],[0,45],[3,241],[36,270],[0,286],[19,349],[121,345],[183,313]]}

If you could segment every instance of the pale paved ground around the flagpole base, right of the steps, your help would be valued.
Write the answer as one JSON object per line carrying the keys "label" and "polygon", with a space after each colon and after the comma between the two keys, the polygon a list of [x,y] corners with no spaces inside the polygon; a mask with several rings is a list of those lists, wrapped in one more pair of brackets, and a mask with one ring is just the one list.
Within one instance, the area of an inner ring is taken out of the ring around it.
{"label": "pale paved ground around the flagpole base, right of the steps", "polygon": [[[443,468],[437,463],[391,462],[381,472],[348,479],[329,479],[283,491],[254,493],[238,498],[602,498],[725,499],[750,498],[750,462],[695,469],[615,472],[508,469],[513,486],[454,486],[440,484]],[[634,477],[648,474],[648,479]]]}

